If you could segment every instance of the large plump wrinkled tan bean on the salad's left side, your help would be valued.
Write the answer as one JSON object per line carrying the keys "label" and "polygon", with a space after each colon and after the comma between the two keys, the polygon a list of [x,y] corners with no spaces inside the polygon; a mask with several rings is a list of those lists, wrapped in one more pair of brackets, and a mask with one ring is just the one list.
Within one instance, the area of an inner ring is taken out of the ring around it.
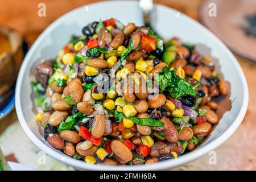
{"label": "large plump wrinkled tan bean on the salad's left side", "polygon": [[71,96],[73,101],[79,103],[82,101],[82,97],[84,96],[84,89],[78,81],[72,81],[64,88],[63,94],[64,96]]}

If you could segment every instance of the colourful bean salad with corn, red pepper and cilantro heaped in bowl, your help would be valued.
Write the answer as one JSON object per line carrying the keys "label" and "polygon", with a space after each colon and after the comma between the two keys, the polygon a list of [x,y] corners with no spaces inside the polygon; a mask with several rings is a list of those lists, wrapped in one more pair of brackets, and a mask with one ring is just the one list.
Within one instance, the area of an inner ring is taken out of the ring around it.
{"label": "colourful bean salad with corn, red pepper and cilantro heaped in bowl", "polygon": [[57,150],[88,164],[138,165],[194,150],[229,93],[212,58],[179,38],[111,18],[72,35],[32,78],[36,120]]}

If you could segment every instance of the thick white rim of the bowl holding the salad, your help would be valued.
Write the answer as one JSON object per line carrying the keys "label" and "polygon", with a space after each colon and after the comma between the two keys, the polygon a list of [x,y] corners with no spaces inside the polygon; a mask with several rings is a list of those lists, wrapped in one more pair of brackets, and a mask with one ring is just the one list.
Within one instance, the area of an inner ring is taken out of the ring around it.
{"label": "thick white rim of the bowl holding the salad", "polygon": [[218,39],[217,36],[214,35],[210,30],[205,28],[199,22],[196,22],[192,18],[189,18],[189,16],[184,15],[184,14],[182,14],[179,11],[176,11],[174,9],[171,9],[170,7],[167,7],[167,6],[164,6],[164,5],[159,5],[159,4],[156,4],[155,6],[160,8],[160,9],[171,10],[174,13],[180,13],[179,16],[182,16],[183,19],[186,19],[187,21],[194,24],[196,27],[199,27],[200,30],[204,31],[212,39],[216,39],[216,42],[219,44],[219,46],[221,46],[221,48],[224,49],[224,51],[230,57],[230,61],[232,61],[232,64],[234,64],[234,66],[238,69],[237,73],[242,79],[243,102],[242,102],[242,107],[241,107],[242,109],[239,111],[239,113],[238,113],[236,119],[234,119],[232,125],[230,125],[230,127],[227,130],[225,130],[221,135],[219,135],[217,138],[213,139],[212,142],[210,142],[208,144],[205,144],[201,148],[197,148],[197,150],[191,151],[188,154],[181,155],[179,157],[179,159],[177,159],[177,160],[166,160],[166,161],[163,161],[163,162],[154,163],[154,164],[147,164],[147,165],[144,165],[144,166],[125,166],[124,167],[124,166],[104,166],[104,165],[86,164],[85,162],[83,162],[81,160],[76,160],[76,159],[73,159],[73,158],[71,158],[71,157],[69,157],[65,154],[60,154],[57,150],[55,150],[52,147],[47,146],[47,144],[45,144],[38,137],[36,137],[36,135],[32,132],[30,127],[28,127],[26,119],[24,118],[24,115],[23,115],[22,105],[21,105],[21,102],[20,102],[20,97],[22,96],[22,93],[20,92],[20,90],[22,88],[23,75],[24,75],[24,72],[26,72],[27,64],[28,64],[28,61],[31,59],[32,53],[35,51],[36,47],[42,41],[42,39],[44,39],[44,36],[46,36],[48,34],[48,32],[51,31],[53,28],[55,28],[57,25],[62,23],[62,21],[67,16],[69,16],[71,14],[75,14],[77,10],[84,9],[84,8],[86,8],[86,6],[87,7],[88,6],[95,7],[95,6],[98,6],[98,5],[109,4],[109,3],[115,4],[115,5],[116,5],[116,3],[118,3],[118,5],[120,6],[121,3],[124,3],[126,5],[127,4],[134,5],[134,3],[138,3],[138,2],[136,2],[136,1],[104,1],[104,2],[92,3],[92,4],[89,4],[89,5],[84,5],[84,6],[76,8],[76,9],[73,9],[73,10],[69,11],[68,13],[60,16],[60,18],[56,19],[53,23],[51,23],[46,28],[46,30],[44,30],[42,32],[42,34],[40,34],[40,36],[36,39],[35,43],[32,45],[32,47],[28,51],[26,57],[24,58],[22,66],[20,68],[19,75],[18,75],[18,80],[16,82],[16,90],[15,90],[16,113],[18,115],[20,125],[22,126],[22,128],[24,130],[24,133],[26,133],[27,137],[38,148],[40,148],[40,150],[45,151],[46,154],[48,154],[52,158],[55,158],[55,159],[59,160],[60,162],[67,164],[68,166],[72,166],[72,167],[78,168],[78,169],[106,170],[106,171],[109,171],[109,170],[133,170],[133,171],[137,171],[137,170],[160,170],[160,169],[173,168],[173,167],[181,166],[182,164],[185,164],[185,163],[188,163],[188,162],[192,162],[193,160],[196,160],[196,159],[200,158],[201,156],[207,154],[209,151],[214,150],[215,148],[220,146],[222,143],[224,143],[234,133],[234,131],[236,131],[237,127],[242,122],[242,119],[245,116],[246,110],[247,110],[247,105],[248,105],[248,101],[249,101],[249,92],[248,92],[248,88],[247,88],[246,78],[245,78],[245,75],[242,71],[242,68],[241,68],[240,64],[238,63],[236,57],[234,57],[234,55],[232,54],[232,52],[230,52],[230,50],[225,46],[225,44],[222,43],[221,40]]}

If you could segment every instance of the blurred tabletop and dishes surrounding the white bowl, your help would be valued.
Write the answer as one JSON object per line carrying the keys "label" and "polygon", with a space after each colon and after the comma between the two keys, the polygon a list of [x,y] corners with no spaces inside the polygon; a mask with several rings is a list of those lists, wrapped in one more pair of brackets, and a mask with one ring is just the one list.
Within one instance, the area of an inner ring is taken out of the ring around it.
{"label": "blurred tabletop and dishes surrounding the white bowl", "polygon": [[[40,17],[38,5],[42,2],[47,14]],[[49,157],[47,166],[38,163],[39,150],[23,133],[16,117],[13,85],[23,56],[41,32],[59,16],[93,2],[100,0],[0,0],[0,147],[7,160],[35,169],[72,169]],[[176,9],[210,28],[232,49],[249,85],[245,119],[236,133],[217,148],[217,164],[210,165],[209,155],[205,155],[175,169],[255,170],[256,0],[154,0],[154,3]],[[215,5],[216,12],[211,13],[217,16],[211,18],[209,9]],[[8,48],[13,51],[6,53]]]}

